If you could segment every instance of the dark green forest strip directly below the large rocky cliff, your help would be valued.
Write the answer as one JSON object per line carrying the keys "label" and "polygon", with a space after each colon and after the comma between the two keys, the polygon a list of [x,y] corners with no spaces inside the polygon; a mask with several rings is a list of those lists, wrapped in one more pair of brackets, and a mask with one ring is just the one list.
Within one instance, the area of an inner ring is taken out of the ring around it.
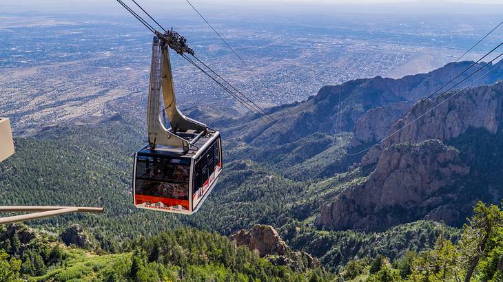
{"label": "dark green forest strip directly below the large rocky cliff", "polygon": [[440,234],[454,242],[460,238],[460,230],[432,221],[402,224],[376,233],[323,231],[298,228],[296,224],[281,229],[281,235],[292,248],[313,254],[333,272],[340,272],[341,266],[352,259],[373,258],[380,254],[396,259],[407,250],[420,252],[433,248]]}

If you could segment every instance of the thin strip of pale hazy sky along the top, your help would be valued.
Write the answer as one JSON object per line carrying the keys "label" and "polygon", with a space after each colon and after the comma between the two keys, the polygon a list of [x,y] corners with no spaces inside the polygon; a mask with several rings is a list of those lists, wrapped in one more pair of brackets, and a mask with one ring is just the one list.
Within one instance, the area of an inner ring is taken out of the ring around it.
{"label": "thin strip of pale hazy sky along the top", "polygon": [[[125,3],[134,6],[132,1]],[[153,12],[170,12],[172,14],[192,14],[194,11],[185,0],[167,1],[147,0],[139,1],[145,8]],[[232,11],[237,14],[260,12],[263,14],[284,13],[369,13],[369,14],[502,14],[503,3],[499,0],[362,0],[358,3],[348,0],[244,0],[236,3],[229,0],[201,1],[192,0],[194,6],[205,11],[225,12]],[[70,14],[96,14],[96,15],[121,15],[125,10],[115,0],[109,1],[79,1],[70,2],[51,0],[40,3],[39,1],[6,0],[1,5],[3,13],[41,12],[41,13],[70,13]],[[500,11],[500,12],[498,12]]]}

